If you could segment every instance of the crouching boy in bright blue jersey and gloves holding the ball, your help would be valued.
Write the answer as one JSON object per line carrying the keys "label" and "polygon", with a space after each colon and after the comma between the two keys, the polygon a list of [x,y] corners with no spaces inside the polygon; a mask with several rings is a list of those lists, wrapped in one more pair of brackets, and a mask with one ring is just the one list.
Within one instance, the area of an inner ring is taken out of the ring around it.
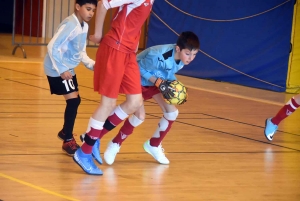
{"label": "crouching boy in bright blue jersey and gloves holding the ball", "polygon": [[[175,73],[194,60],[199,47],[200,42],[197,35],[186,31],[181,33],[176,44],[153,46],[137,55],[143,98],[144,100],[153,98],[163,111],[163,117],[158,124],[158,128],[152,138],[144,143],[144,149],[161,164],[169,164],[169,160],[163,153],[161,142],[178,116],[176,106],[167,104],[164,97],[172,95],[172,89],[168,86],[170,81],[176,80]],[[118,110],[118,107],[115,111]],[[118,113],[113,112],[107,118],[102,132],[106,133],[115,128],[120,119],[121,117],[118,117]],[[117,136],[109,142],[104,152],[104,159],[107,164],[111,165],[114,162],[122,142],[144,119],[145,109],[144,105],[142,105],[133,115],[125,120]],[[81,138],[83,138],[83,135]],[[100,156],[98,148],[93,147],[93,155]],[[97,161],[99,160],[101,158]]]}

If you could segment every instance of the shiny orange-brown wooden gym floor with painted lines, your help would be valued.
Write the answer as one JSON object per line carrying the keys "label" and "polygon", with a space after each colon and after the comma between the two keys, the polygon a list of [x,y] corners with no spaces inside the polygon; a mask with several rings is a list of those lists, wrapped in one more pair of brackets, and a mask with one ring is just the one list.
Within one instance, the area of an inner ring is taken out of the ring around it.
{"label": "shiny orange-brown wooden gym floor with painted lines", "polygon": [[[0,39],[0,200],[300,200],[300,112],[282,122],[272,143],[263,134],[265,119],[292,94],[178,76],[189,100],[163,142],[170,165],[156,163],[142,148],[161,117],[147,101],[146,121],[123,143],[115,163],[99,165],[103,176],[90,176],[61,151],[57,132],[65,101],[49,93],[45,47],[26,46],[23,59],[20,50],[11,56],[11,36]],[[95,51],[88,49],[92,58]],[[99,95],[92,72],[83,66],[76,72],[79,142]],[[117,131],[104,136],[102,154]]]}

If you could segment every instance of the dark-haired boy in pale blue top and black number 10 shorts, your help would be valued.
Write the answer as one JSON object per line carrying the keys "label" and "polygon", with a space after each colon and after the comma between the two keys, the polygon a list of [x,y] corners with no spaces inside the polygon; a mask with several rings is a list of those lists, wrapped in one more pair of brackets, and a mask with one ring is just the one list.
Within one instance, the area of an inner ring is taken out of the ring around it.
{"label": "dark-haired boy in pale blue top and black number 10 shorts", "polygon": [[58,132],[58,138],[63,140],[62,150],[70,156],[80,147],[73,137],[81,100],[74,68],[80,62],[90,70],[94,68],[95,61],[86,54],[86,22],[93,17],[96,6],[97,0],[76,0],[75,12],[58,26],[47,46],[48,52],[44,59],[44,70],[51,94],[63,95],[66,100],[64,125]]}

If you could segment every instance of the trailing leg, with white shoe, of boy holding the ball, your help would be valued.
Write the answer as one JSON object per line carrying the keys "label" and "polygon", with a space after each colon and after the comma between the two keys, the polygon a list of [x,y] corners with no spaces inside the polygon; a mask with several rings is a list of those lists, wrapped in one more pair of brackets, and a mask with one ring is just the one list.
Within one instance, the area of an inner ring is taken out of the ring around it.
{"label": "trailing leg, with white shoe, of boy holding the ball", "polygon": [[[127,100],[135,99],[132,96],[135,95],[128,95]],[[104,152],[104,159],[107,164],[111,165],[114,163],[116,155],[120,151],[123,141],[133,133],[135,127],[143,123],[144,119],[145,109],[144,105],[142,105],[134,114],[125,120],[118,134],[114,139],[112,139],[112,141],[109,142],[107,149]]]}

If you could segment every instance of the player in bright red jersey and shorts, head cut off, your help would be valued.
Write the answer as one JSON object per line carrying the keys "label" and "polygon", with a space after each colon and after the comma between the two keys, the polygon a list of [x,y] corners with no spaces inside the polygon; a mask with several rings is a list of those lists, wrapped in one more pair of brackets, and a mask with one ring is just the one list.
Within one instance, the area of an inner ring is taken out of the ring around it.
{"label": "player in bright red jersey and shorts, head cut off", "polygon": [[[148,18],[154,0],[101,0],[96,11],[95,34],[90,40],[99,43],[94,66],[94,90],[101,94],[101,102],[90,118],[84,143],[74,154],[74,161],[87,173],[102,175],[92,159],[92,148],[99,147],[98,139],[105,134],[103,125],[117,125],[134,113],[143,103],[140,71],[136,51],[141,27]],[[118,7],[111,29],[102,38],[107,10]],[[119,93],[126,94],[126,101],[116,106]],[[98,158],[98,156],[94,157]],[[101,162],[100,159],[97,160]]]}

